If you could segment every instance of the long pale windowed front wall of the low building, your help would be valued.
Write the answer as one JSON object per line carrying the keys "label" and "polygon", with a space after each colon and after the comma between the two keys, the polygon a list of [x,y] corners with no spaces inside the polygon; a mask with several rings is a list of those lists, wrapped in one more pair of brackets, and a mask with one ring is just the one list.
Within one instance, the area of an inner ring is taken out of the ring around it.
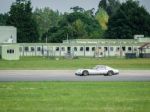
{"label": "long pale windowed front wall of the low building", "polygon": [[[28,50],[25,50],[28,47]],[[68,53],[74,56],[87,57],[108,57],[108,56],[125,56],[126,53],[139,54],[139,46],[67,46],[67,45],[24,45],[20,46],[20,56],[65,56]],[[94,47],[95,50],[92,50]],[[124,48],[123,48],[124,47]],[[81,50],[82,48],[82,50]],[[34,50],[33,50],[34,49]],[[40,50],[39,50],[40,49]]]}

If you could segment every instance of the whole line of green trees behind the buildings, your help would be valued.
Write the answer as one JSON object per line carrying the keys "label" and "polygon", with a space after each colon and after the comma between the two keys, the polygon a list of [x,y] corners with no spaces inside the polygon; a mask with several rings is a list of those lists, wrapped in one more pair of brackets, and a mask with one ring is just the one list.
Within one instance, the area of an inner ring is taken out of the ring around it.
{"label": "whole line of green trees behind the buildings", "polygon": [[70,9],[64,14],[48,7],[33,11],[30,0],[16,0],[8,13],[0,14],[0,25],[17,27],[18,43],[150,36],[150,14],[138,1],[101,0],[97,10]]}

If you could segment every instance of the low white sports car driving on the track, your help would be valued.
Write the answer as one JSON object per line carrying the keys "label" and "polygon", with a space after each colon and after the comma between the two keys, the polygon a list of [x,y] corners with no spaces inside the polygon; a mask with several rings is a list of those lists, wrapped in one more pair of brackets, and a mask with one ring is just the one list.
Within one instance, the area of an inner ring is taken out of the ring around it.
{"label": "low white sports car driving on the track", "polygon": [[75,72],[75,74],[80,76],[90,75],[90,74],[104,74],[107,76],[111,76],[111,75],[119,74],[119,70],[104,65],[97,65],[93,69],[78,69]]}

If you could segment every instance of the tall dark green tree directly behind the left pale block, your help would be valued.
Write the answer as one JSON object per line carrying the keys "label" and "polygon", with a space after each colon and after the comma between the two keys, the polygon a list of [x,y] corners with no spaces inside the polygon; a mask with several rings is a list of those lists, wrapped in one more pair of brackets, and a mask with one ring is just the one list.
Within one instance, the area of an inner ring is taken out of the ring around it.
{"label": "tall dark green tree directly behind the left pale block", "polygon": [[11,5],[7,24],[17,27],[17,42],[38,41],[37,24],[29,0],[16,0]]}

